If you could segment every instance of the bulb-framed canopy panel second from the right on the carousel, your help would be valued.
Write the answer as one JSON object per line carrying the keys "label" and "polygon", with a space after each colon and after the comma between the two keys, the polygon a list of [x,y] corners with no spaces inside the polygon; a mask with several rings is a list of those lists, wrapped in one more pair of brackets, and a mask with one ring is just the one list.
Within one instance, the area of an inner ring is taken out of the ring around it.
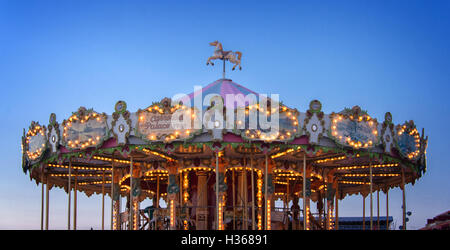
{"label": "bulb-framed canopy panel second from the right on the carousel", "polygon": [[370,148],[378,143],[378,122],[358,106],[330,115],[331,136],[339,144],[355,149]]}

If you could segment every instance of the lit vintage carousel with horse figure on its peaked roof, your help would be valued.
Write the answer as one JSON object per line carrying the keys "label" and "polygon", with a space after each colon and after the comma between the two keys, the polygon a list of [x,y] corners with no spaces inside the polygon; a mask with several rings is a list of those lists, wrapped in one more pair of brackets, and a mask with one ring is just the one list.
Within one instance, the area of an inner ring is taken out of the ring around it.
{"label": "lit vintage carousel with horse figure on its peaked roof", "polygon": [[[191,94],[134,112],[124,101],[111,114],[80,107],[24,129],[22,168],[42,187],[41,229],[55,187],[68,194],[67,229],[77,227],[84,192],[101,195],[102,229],[108,220],[112,230],[337,230],[338,202],[350,195],[362,196],[363,213],[369,196],[364,223],[374,229],[373,194],[388,202],[399,187],[406,229],[404,187],[426,171],[423,129],[396,125],[389,112],[378,121],[359,106],[330,114],[318,100],[288,107],[225,78],[225,62],[241,69],[242,53],[210,45],[207,64],[222,60],[223,77]],[[152,206],[141,207],[146,199]]]}

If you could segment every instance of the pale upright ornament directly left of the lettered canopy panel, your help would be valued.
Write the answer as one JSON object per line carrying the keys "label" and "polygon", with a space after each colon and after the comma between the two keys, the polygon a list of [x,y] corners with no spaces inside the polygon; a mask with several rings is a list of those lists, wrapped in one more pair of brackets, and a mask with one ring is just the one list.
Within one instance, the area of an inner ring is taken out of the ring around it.
{"label": "pale upright ornament directly left of the lettered canopy panel", "polygon": [[118,101],[114,109],[111,131],[117,140],[117,144],[125,145],[131,131],[130,112],[128,112],[127,104],[124,101]]}

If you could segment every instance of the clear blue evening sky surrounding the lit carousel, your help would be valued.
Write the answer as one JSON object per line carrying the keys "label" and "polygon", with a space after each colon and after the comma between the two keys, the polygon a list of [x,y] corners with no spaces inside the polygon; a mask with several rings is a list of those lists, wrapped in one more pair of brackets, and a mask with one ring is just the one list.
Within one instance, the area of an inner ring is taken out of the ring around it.
{"label": "clear blue evening sky surrounding the lit carousel", "polygon": [[[228,78],[290,107],[359,105],[379,121],[390,111],[396,124],[425,127],[428,171],[406,188],[408,228],[421,228],[450,209],[449,13],[446,0],[0,0],[0,229],[40,228],[41,188],[21,169],[23,128],[80,106],[110,114],[124,100],[134,112],[190,93],[221,77],[220,64],[206,66],[214,40],[243,52]],[[401,191],[389,194],[398,228]],[[101,198],[78,197],[78,227],[99,229]],[[61,189],[50,213],[50,228],[65,229]],[[339,215],[362,216],[362,198],[346,197]]]}

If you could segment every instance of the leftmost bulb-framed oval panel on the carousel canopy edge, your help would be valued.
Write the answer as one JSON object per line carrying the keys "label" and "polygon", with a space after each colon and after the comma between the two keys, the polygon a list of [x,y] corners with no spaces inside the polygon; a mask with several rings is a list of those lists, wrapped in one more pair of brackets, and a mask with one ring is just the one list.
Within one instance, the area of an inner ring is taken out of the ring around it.
{"label": "leftmost bulb-framed oval panel on the carousel canopy edge", "polygon": [[38,122],[31,122],[25,136],[24,152],[28,161],[39,160],[47,148],[47,136],[45,126]]}

